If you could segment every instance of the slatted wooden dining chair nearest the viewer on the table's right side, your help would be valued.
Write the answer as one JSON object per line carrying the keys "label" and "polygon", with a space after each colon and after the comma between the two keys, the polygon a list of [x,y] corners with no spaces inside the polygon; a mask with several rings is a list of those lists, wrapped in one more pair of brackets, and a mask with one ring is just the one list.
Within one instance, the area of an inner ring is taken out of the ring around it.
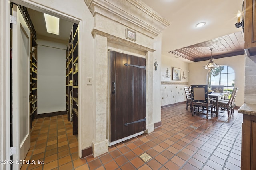
{"label": "slatted wooden dining chair nearest the viewer on the table's right side", "polygon": [[[237,93],[237,89],[238,89],[237,87],[233,88],[231,97],[228,100],[224,100],[224,99],[218,100],[219,109],[227,111],[228,117],[230,117],[230,115],[233,115],[233,113],[234,113],[234,109],[232,109],[232,103],[234,101],[235,94]],[[216,100],[212,100],[212,104],[213,104],[214,111],[215,111],[215,109],[217,107]]]}

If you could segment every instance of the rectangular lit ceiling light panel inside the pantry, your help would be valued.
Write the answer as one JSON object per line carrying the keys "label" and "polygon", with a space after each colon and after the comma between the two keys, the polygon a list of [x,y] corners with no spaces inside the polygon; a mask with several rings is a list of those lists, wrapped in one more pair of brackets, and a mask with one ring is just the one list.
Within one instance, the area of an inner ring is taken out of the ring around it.
{"label": "rectangular lit ceiling light panel inside the pantry", "polygon": [[44,20],[47,32],[59,35],[60,18],[44,13]]}

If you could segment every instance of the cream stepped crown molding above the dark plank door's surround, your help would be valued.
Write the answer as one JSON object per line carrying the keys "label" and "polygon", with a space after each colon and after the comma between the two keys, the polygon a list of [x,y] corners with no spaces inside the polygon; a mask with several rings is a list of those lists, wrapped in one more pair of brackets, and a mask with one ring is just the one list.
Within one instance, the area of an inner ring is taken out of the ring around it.
{"label": "cream stepped crown molding above the dark plank door's surround", "polygon": [[85,0],[85,3],[94,17],[104,16],[151,38],[170,25],[170,21],[138,0]]}

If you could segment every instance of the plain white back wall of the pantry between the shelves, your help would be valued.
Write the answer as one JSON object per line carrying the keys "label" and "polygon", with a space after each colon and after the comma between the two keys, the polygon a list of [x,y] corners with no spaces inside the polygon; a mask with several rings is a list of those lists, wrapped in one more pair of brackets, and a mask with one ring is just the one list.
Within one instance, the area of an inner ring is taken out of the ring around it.
{"label": "plain white back wall of the pantry between the shelves", "polygon": [[66,111],[66,44],[45,39],[37,44],[37,114]]}

